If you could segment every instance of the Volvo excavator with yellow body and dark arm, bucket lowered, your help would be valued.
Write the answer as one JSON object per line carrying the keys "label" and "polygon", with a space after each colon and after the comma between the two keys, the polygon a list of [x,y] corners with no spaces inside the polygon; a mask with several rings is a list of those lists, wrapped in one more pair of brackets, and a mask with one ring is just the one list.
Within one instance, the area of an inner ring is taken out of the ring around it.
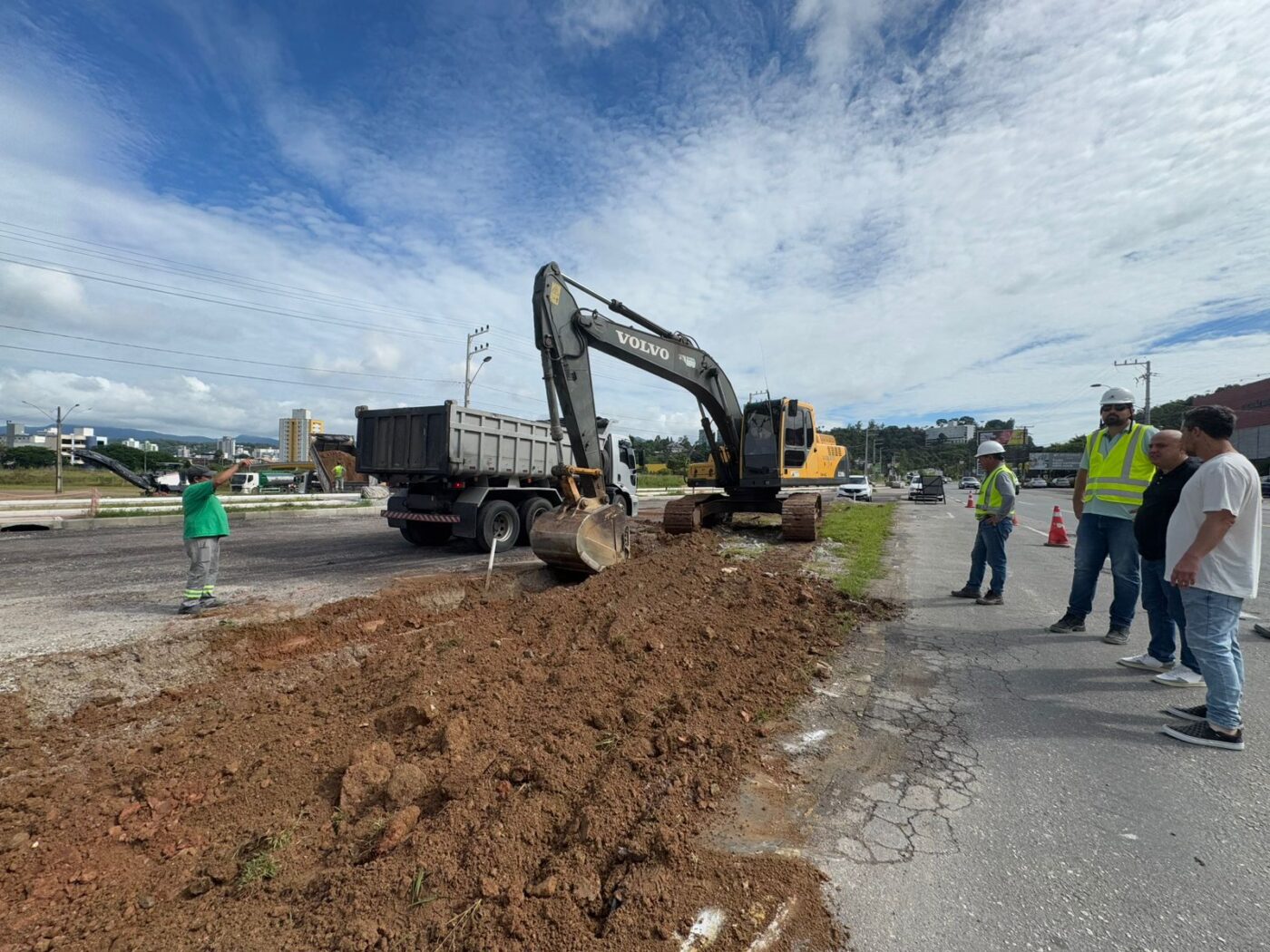
{"label": "Volvo excavator with yellow body and dark arm, bucket lowered", "polygon": [[[638,326],[579,307],[570,288]],[[563,274],[555,261],[544,265],[533,282],[533,327],[556,440],[559,462],[552,473],[565,499],[533,523],[530,543],[538,559],[560,569],[598,572],[630,555],[625,509],[610,504],[605,490],[592,348],[668,380],[697,400],[710,446],[710,481],[719,491],[669,501],[662,523],[667,532],[692,532],[734,513],[777,513],[786,539],[815,541],[820,494],[781,494],[837,485],[846,451],[832,437],[817,433],[810,406],[784,397],[742,406],[723,368],[692,338],[597,294]],[[569,459],[563,449],[565,430]],[[706,475],[700,473],[701,481]]]}

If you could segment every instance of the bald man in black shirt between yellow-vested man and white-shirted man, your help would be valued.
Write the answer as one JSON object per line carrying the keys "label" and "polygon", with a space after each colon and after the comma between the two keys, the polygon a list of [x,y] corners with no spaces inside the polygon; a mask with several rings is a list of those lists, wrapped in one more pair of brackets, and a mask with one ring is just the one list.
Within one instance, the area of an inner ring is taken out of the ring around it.
{"label": "bald man in black shirt between yellow-vested man and white-shirted man", "polygon": [[[1121,658],[1116,664],[1154,671],[1152,679],[1173,688],[1203,688],[1204,677],[1199,664],[1186,645],[1186,616],[1177,589],[1165,578],[1165,536],[1168,517],[1177,508],[1182,486],[1195,475],[1200,461],[1186,456],[1182,434],[1177,430],[1160,430],[1151,438],[1151,462],[1156,476],[1142,496],[1142,508],[1133,519],[1133,534],[1138,539],[1142,556],[1142,607],[1147,612],[1151,644],[1147,654]],[[1173,670],[1176,633],[1181,635],[1182,666]]]}

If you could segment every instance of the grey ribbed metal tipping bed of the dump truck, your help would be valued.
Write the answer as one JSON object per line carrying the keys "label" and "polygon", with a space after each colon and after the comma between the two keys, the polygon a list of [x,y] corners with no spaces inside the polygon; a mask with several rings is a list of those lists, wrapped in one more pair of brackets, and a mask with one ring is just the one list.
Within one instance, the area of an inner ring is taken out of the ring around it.
{"label": "grey ribbed metal tipping bed of the dump truck", "polygon": [[[568,461],[568,443],[564,444]],[[446,401],[357,409],[357,470],[392,476],[549,479],[558,463],[551,426]]]}

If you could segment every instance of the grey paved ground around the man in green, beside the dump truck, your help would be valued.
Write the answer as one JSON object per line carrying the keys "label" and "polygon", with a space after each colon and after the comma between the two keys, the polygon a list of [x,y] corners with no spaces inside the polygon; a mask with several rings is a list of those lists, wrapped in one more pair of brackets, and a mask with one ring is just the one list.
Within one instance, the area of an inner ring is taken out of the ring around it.
{"label": "grey paved ground around the man in green, beside the dump truck", "polygon": [[[641,515],[659,520],[663,505],[643,500]],[[462,541],[418,548],[364,514],[231,519],[231,529],[217,595],[293,611],[375,592],[399,575],[484,569],[489,559]],[[516,548],[498,565],[533,560],[528,548]],[[179,524],[0,533],[0,663],[206,623],[174,616],[185,565]]]}

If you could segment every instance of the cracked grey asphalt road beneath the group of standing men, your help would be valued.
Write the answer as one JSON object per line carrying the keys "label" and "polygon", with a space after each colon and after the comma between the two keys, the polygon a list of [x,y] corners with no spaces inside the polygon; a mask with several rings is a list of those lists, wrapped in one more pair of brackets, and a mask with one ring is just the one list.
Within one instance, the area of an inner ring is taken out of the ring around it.
{"label": "cracked grey asphalt road beneath the group of standing men", "polygon": [[[1022,493],[1001,608],[947,597],[969,566],[964,491],[900,503],[909,612],[883,633],[860,741],[898,737],[907,760],[855,793],[859,831],[823,859],[860,952],[1270,948],[1270,640],[1251,632],[1270,616],[1270,545],[1241,640],[1248,748],[1187,746],[1158,734],[1160,711],[1203,692],[1115,664],[1146,650],[1147,625],[1101,642],[1106,571],[1088,633],[1045,631],[1073,550],[1044,536],[1055,504],[1072,531],[1069,495]],[[906,825],[923,801],[941,809]]]}

